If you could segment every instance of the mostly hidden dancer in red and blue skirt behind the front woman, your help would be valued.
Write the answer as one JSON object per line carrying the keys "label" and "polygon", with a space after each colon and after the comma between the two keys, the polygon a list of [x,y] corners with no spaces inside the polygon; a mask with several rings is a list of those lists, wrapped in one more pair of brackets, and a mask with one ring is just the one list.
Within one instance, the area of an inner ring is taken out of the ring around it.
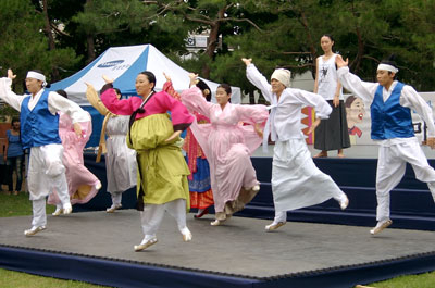
{"label": "mostly hidden dancer in red and blue skirt behind the front woman", "polygon": [[[172,86],[171,77],[164,74],[166,83],[163,85],[163,91],[181,100],[179,93],[175,91]],[[208,102],[211,100],[210,87],[201,79],[197,79],[196,86],[201,90],[202,96]],[[210,123],[210,120],[198,113],[194,112],[194,116],[198,124]],[[186,151],[186,161],[190,171],[190,175],[187,176],[189,181],[189,193],[190,193],[190,208],[196,208],[197,214],[195,218],[200,218],[209,213],[209,208],[213,205],[213,192],[210,184],[210,166],[207,161],[206,154],[195,138],[190,127],[187,128],[186,137],[184,139],[183,150]]]}

